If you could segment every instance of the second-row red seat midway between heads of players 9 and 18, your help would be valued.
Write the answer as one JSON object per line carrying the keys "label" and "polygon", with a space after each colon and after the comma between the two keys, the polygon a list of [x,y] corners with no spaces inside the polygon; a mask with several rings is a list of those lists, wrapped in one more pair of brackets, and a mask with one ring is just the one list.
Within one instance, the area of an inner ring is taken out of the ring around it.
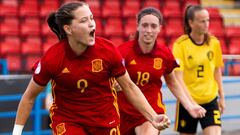
{"label": "second-row red seat midway between heads of players 9 and 18", "polygon": [[122,36],[122,20],[120,18],[109,18],[104,26],[105,36]]}

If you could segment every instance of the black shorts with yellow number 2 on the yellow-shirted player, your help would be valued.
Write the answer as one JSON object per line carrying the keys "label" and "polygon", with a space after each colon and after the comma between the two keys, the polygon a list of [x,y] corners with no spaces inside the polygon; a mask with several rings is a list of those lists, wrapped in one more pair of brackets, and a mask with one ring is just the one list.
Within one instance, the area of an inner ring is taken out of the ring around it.
{"label": "black shorts with yellow number 2 on the yellow-shirted player", "polygon": [[175,130],[180,133],[196,133],[198,121],[200,121],[202,129],[211,125],[221,126],[221,113],[219,111],[217,97],[210,103],[201,106],[207,110],[205,117],[194,119],[187,110],[178,103]]}

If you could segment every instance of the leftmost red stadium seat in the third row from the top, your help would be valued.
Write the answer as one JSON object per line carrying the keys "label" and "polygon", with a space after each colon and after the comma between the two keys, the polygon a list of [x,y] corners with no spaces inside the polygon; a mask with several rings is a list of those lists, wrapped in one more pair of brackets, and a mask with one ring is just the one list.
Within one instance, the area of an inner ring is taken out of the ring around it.
{"label": "leftmost red stadium seat in the third row from the top", "polygon": [[1,55],[19,54],[21,51],[20,38],[15,36],[5,37],[1,43]]}

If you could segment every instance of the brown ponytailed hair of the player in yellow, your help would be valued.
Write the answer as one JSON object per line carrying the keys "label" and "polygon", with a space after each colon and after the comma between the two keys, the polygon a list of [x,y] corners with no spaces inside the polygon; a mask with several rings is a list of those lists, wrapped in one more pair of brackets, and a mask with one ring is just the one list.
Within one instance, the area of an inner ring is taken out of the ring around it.
{"label": "brown ponytailed hair of the player in yellow", "polygon": [[[184,16],[184,33],[185,34],[189,35],[192,32],[192,28],[189,25],[189,20],[193,20],[195,17],[194,16],[195,12],[200,10],[204,10],[204,8],[200,5],[189,5],[185,9],[185,16]],[[209,33],[204,34],[204,40],[205,40],[204,42],[209,44],[209,40],[210,40]]]}

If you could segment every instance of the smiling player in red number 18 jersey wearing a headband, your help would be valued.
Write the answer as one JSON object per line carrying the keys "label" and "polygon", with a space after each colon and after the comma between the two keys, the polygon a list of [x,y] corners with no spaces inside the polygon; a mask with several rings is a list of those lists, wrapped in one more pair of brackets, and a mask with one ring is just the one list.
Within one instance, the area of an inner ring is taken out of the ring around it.
{"label": "smiling player in red number 18 jersey wearing a headband", "polygon": [[[136,38],[119,46],[131,79],[158,114],[164,114],[166,111],[160,91],[161,77],[164,76],[171,92],[184,104],[189,113],[194,117],[203,117],[205,110],[192,103],[188,93],[185,93],[175,79],[172,71],[178,64],[173,54],[167,47],[156,42],[162,24],[160,11],[155,8],[143,9],[137,16],[137,23]],[[129,104],[122,92],[118,94],[118,101],[122,135],[159,135],[159,130]]]}

